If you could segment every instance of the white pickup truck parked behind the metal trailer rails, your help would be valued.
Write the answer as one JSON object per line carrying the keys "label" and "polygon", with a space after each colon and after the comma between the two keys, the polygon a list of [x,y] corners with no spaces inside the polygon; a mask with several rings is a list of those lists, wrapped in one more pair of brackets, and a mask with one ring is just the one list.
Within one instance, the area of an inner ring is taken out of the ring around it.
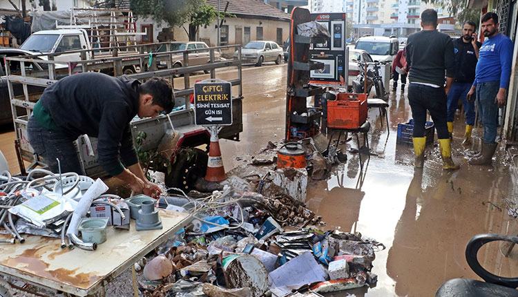
{"label": "white pickup truck parked behind the metal trailer rails", "polygon": [[[63,52],[61,55],[52,55],[55,61],[81,61],[81,52],[68,52],[77,50],[92,50],[90,39],[84,29],[59,29],[59,30],[42,30],[32,33],[29,38],[23,42],[20,47],[23,50],[28,50],[37,54],[54,54]],[[133,52],[119,52],[122,55],[135,55]],[[92,51],[85,52],[86,59],[93,59]],[[112,57],[111,52],[95,53],[95,59],[100,59],[103,56]],[[45,56],[41,56],[46,59]],[[135,60],[135,65],[127,65],[123,68],[123,73],[130,75],[137,73],[137,64],[139,60]],[[58,66],[59,68],[59,66]]]}

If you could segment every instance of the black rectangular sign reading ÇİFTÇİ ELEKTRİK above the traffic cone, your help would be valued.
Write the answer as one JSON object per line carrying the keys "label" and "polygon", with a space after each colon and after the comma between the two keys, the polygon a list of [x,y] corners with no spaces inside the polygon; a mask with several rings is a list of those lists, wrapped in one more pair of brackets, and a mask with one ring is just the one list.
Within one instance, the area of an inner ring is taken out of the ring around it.
{"label": "black rectangular sign reading \u00c7\u0130FT\u00c7\u0130 ELEKTR\u0130K above the traffic cone", "polygon": [[195,124],[225,126],[232,124],[231,84],[207,79],[194,84]]}

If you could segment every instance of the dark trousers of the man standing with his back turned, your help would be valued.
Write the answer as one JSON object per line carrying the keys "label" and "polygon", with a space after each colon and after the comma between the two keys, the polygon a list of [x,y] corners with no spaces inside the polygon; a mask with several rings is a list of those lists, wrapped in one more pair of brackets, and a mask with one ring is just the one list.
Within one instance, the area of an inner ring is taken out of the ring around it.
{"label": "dark trousers of the man standing with his back turned", "polygon": [[414,118],[413,137],[425,136],[426,111],[430,111],[437,137],[440,140],[450,138],[448,133],[446,93],[444,88],[434,88],[422,84],[410,84],[408,102]]}

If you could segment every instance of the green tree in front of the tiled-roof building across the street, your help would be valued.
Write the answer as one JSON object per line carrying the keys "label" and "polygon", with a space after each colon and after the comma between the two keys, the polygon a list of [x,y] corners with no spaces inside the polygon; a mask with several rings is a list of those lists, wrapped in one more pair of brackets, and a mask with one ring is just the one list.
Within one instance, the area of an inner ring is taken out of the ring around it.
{"label": "green tree in front of the tiled-roof building across the street", "polygon": [[193,13],[205,6],[205,0],[130,0],[130,8],[138,17],[152,17],[157,23],[183,26]]}

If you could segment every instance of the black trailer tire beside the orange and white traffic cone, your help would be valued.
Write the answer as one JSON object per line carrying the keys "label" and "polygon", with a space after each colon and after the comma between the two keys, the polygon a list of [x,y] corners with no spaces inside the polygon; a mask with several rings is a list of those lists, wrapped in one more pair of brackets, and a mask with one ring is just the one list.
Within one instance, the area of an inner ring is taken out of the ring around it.
{"label": "black trailer tire beside the orange and white traffic cone", "polygon": [[195,157],[187,160],[186,151],[180,151],[176,156],[175,164],[170,173],[166,173],[164,182],[169,188],[182,189],[186,193],[194,189],[198,178],[203,178],[207,173],[207,161],[209,156],[199,148],[193,148]]}

